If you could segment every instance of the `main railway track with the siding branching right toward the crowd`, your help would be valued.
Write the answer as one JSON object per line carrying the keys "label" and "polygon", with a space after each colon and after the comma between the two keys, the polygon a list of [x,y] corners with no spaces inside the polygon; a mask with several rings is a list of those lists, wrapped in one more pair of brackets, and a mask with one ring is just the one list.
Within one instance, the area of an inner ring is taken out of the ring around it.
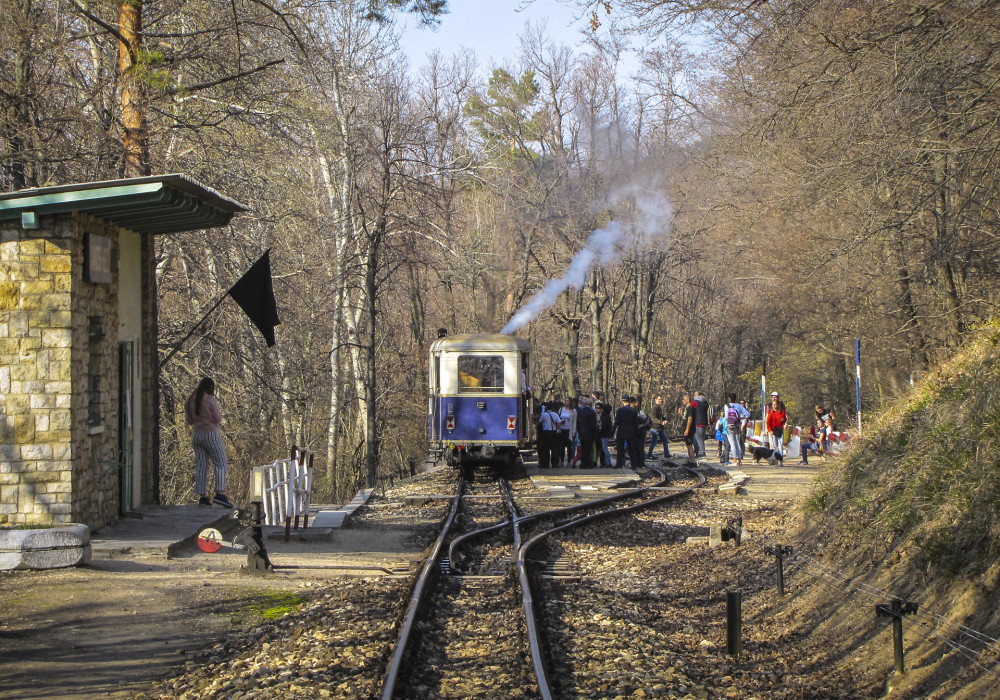
{"label": "main railway track with the siding branching right toward the crowd", "polygon": [[[658,476],[651,484],[663,487],[667,476],[654,471]],[[539,561],[530,553],[540,551],[539,545],[555,533],[655,507],[690,493],[700,483],[704,478],[699,476],[690,488],[669,492],[647,485],[588,503],[522,515],[501,479],[497,488],[507,516],[476,527],[499,513],[494,508],[470,514],[471,499],[463,498],[468,484],[461,482],[414,585],[383,682],[383,700],[553,697],[553,656],[538,624],[537,581],[572,579],[574,573],[558,560]],[[556,522],[546,524],[552,520]],[[468,531],[456,534],[460,525]],[[526,537],[529,529],[530,537]],[[478,548],[470,551],[473,543]],[[516,571],[516,583],[507,575],[510,571]],[[561,672],[556,669],[557,674]]]}

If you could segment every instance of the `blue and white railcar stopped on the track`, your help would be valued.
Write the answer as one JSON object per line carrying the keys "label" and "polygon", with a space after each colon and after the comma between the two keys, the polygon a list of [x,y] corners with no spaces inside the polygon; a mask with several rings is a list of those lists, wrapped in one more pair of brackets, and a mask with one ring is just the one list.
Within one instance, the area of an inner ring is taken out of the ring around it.
{"label": "blue and white railcar stopped on the track", "polygon": [[431,343],[431,454],[449,464],[507,461],[533,439],[531,344],[500,333],[446,335]]}

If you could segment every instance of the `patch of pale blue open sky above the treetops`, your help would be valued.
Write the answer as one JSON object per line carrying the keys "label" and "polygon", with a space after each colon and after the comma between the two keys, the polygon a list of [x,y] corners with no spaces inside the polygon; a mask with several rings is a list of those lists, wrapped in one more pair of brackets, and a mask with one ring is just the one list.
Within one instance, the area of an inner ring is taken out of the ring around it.
{"label": "patch of pale blue open sky above the treetops", "polygon": [[582,40],[580,31],[587,29],[590,21],[589,15],[579,15],[573,3],[557,0],[449,0],[448,14],[441,17],[436,29],[420,27],[408,18],[400,43],[411,68],[426,64],[427,54],[434,50],[448,57],[469,48],[485,69],[491,62],[500,65],[504,59],[517,57],[518,35],[526,22],[545,21],[552,39],[576,47]]}

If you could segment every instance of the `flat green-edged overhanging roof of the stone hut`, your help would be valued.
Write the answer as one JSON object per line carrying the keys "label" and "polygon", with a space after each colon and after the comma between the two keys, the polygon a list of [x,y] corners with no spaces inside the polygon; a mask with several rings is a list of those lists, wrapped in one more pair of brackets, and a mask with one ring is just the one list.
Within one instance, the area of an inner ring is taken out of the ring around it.
{"label": "flat green-edged overhanging roof of the stone hut", "polygon": [[225,226],[247,208],[181,174],[0,193],[0,221],[20,218],[25,228],[36,228],[39,216],[74,211],[156,235]]}

